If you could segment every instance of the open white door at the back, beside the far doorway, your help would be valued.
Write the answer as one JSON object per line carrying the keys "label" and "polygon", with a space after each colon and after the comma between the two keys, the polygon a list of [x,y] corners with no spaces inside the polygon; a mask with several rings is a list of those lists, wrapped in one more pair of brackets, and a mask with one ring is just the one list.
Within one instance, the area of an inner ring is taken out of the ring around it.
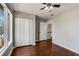
{"label": "open white door at the back, beside the far doorway", "polygon": [[47,25],[46,22],[40,22],[40,40],[47,39]]}

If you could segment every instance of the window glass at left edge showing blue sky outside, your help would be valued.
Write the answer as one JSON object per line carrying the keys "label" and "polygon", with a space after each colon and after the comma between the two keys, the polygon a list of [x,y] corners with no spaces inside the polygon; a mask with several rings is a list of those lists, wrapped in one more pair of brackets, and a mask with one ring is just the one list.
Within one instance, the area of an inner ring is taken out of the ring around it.
{"label": "window glass at left edge showing blue sky outside", "polygon": [[0,48],[4,45],[4,8],[0,5]]}

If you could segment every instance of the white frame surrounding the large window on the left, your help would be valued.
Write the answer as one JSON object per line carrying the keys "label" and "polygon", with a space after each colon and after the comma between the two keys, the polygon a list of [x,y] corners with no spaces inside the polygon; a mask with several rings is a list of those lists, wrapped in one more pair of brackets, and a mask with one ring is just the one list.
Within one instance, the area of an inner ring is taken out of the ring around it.
{"label": "white frame surrounding the large window on the left", "polygon": [[[3,50],[10,44],[10,43],[12,43],[12,13],[10,12],[10,10],[8,9],[8,7],[6,6],[6,4],[4,4],[4,3],[0,3],[2,6],[3,6],[3,8],[4,8],[4,19],[5,19],[5,23],[4,23],[4,28],[5,28],[5,26],[7,25],[7,28],[6,29],[4,29],[4,31],[5,32],[7,32],[7,33],[5,33],[4,32],[4,36],[5,36],[5,42],[6,42],[6,44],[2,47],[2,48],[0,48],[0,55],[1,55],[1,52],[3,52]],[[8,17],[8,14],[10,15],[9,17]],[[8,21],[9,21],[9,24],[7,24],[8,23]],[[9,27],[8,27],[9,26]],[[8,36],[6,36],[8,34]],[[8,39],[9,38],[9,39]],[[8,40],[10,40],[10,41],[8,41]]]}

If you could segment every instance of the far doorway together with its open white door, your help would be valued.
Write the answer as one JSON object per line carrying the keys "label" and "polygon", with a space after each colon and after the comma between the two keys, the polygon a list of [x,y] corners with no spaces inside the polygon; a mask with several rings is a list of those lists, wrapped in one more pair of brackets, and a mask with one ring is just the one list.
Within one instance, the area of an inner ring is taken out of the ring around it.
{"label": "far doorway together with its open white door", "polygon": [[52,40],[52,24],[47,24],[46,22],[40,22],[40,33],[39,40]]}

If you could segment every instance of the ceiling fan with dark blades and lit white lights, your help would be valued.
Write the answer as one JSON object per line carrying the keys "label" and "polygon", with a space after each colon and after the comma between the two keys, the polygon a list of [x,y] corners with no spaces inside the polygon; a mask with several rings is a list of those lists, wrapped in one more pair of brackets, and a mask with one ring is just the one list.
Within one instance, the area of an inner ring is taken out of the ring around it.
{"label": "ceiling fan with dark blades and lit white lights", "polygon": [[40,10],[47,10],[48,12],[51,12],[53,7],[59,8],[60,4],[52,4],[52,3],[42,3],[45,5],[45,7],[41,8]]}

